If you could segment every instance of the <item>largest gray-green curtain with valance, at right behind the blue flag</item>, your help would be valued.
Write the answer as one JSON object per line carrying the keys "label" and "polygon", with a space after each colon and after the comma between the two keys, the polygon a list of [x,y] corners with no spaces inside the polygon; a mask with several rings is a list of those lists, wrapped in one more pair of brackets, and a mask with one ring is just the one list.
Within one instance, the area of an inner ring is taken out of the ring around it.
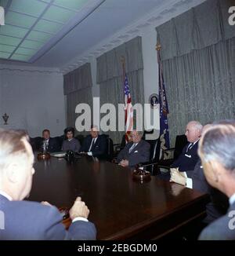
{"label": "largest gray-green curtain with valance, at right behind the blue flag", "polygon": [[157,27],[171,144],[186,123],[234,119],[235,27],[230,0],[209,0]]}

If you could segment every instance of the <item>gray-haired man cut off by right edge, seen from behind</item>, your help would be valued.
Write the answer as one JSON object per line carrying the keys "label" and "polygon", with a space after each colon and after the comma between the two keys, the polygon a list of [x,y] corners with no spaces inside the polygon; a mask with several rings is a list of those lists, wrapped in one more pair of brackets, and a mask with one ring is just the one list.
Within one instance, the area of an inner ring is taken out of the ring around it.
{"label": "gray-haired man cut off by right edge, seen from behind", "polygon": [[204,175],[214,188],[230,199],[227,214],[208,225],[199,240],[235,240],[235,126],[211,126],[202,134],[198,154]]}

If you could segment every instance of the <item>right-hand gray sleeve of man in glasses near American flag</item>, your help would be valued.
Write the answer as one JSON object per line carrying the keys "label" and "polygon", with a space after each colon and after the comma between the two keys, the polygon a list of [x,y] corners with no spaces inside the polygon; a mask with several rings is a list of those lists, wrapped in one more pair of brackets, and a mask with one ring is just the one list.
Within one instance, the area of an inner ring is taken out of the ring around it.
{"label": "right-hand gray sleeve of man in glasses near American flag", "polygon": [[138,163],[150,161],[150,144],[144,141],[141,147],[138,148],[136,154],[130,154],[128,157],[129,166],[135,166]]}

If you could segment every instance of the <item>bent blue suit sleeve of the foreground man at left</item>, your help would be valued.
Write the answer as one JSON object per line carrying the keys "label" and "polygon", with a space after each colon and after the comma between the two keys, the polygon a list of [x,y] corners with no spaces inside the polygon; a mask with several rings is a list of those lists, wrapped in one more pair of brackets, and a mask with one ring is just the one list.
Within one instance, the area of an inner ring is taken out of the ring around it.
{"label": "bent blue suit sleeve of the foreground man at left", "polygon": [[61,224],[61,216],[50,207],[45,218],[45,240],[96,240],[96,228],[91,222],[74,221],[68,231]]}

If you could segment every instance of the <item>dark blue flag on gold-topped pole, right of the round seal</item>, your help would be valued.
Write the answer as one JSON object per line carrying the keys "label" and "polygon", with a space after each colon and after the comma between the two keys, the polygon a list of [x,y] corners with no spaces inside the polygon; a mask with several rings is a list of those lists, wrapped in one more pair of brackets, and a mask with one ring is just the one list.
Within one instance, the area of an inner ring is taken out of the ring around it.
{"label": "dark blue flag on gold-topped pole, right of the round seal", "polygon": [[160,52],[157,50],[157,59],[159,67],[159,104],[160,104],[160,141],[161,149],[170,147],[169,130],[168,130],[168,101],[164,90],[164,79],[161,67]]}

